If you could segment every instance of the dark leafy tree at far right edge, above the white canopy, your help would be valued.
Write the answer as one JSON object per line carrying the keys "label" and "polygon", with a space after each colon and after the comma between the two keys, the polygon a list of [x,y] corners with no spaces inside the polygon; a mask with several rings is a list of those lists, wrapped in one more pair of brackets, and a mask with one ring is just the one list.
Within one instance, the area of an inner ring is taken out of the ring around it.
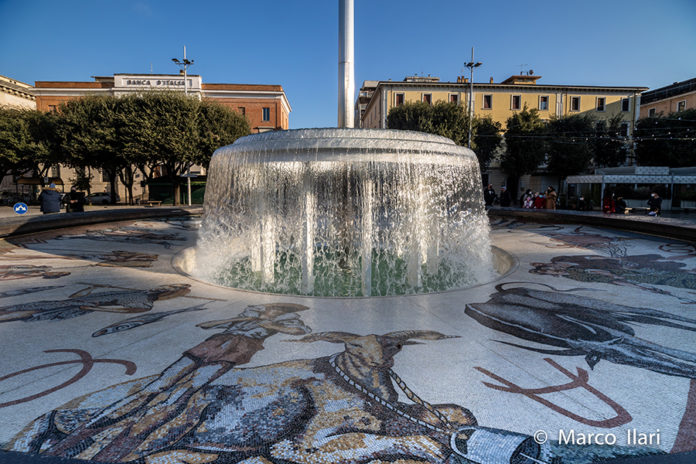
{"label": "dark leafy tree at far right edge, above the white canopy", "polygon": [[646,166],[696,165],[696,109],[638,121],[636,159]]}

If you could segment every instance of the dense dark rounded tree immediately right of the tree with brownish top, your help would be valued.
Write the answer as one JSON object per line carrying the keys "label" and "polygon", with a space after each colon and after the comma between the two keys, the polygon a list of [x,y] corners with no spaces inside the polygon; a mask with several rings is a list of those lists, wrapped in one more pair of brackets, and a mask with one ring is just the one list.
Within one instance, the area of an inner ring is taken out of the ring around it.
{"label": "dense dark rounded tree immediately right of the tree with brownish top", "polygon": [[573,115],[554,118],[548,125],[548,171],[567,177],[586,170],[594,154],[594,120]]}

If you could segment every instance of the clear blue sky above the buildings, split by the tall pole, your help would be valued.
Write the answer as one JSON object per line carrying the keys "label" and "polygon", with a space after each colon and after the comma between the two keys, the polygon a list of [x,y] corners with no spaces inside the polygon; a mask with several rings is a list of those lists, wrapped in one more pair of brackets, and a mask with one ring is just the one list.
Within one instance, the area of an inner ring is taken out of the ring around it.
{"label": "clear blue sky above the buildings, split by the tall pole", "polygon": [[[696,0],[355,0],[356,88],[415,73],[476,82],[661,87],[696,77]],[[281,84],[290,127],[336,125],[337,0],[0,0],[0,74],[89,81],[175,73],[187,46],[204,82]]]}

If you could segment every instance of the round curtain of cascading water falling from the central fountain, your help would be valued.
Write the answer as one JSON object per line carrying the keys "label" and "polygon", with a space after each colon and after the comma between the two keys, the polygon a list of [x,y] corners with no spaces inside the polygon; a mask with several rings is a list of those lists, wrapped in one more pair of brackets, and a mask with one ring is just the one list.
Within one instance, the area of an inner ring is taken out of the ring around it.
{"label": "round curtain of cascading water falling from the central fountain", "polygon": [[251,135],[210,163],[193,275],[315,296],[427,293],[493,273],[474,153],[418,132]]}

